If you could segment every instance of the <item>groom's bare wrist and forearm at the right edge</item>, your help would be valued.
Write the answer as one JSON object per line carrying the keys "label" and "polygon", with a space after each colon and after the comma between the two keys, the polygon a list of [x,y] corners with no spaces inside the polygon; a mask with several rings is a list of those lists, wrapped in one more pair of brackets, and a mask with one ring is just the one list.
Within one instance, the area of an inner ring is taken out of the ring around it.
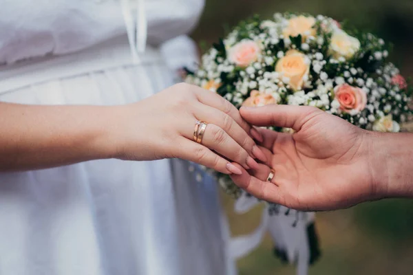
{"label": "groom's bare wrist and forearm at the right edge", "polygon": [[379,197],[413,198],[413,134],[374,133],[369,154]]}

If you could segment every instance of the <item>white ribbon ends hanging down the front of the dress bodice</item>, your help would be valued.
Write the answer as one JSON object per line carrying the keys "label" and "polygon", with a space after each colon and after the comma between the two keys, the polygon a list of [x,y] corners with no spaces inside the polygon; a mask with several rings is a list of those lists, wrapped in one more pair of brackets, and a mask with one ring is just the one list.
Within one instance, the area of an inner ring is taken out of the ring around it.
{"label": "white ribbon ends hanging down the front of the dress bodice", "polygon": [[147,42],[145,0],[120,0],[120,3],[132,60],[134,63],[139,63],[139,54],[145,52]]}

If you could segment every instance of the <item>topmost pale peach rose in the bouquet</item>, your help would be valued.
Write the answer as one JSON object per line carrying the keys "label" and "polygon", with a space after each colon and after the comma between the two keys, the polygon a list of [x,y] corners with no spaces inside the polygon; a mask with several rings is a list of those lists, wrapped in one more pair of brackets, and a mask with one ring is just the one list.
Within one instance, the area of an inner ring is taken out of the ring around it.
{"label": "topmost pale peach rose in the bouquet", "polygon": [[314,25],[314,17],[304,17],[304,15],[300,15],[299,17],[293,17],[288,21],[288,25],[283,30],[282,34],[285,37],[295,37],[301,34],[304,41],[307,36],[315,36],[316,32]]}

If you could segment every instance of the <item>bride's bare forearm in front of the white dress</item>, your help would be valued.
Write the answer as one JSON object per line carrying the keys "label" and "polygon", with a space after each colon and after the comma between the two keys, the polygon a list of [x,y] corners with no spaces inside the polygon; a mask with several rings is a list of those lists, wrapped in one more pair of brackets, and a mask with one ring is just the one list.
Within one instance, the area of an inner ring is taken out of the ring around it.
{"label": "bride's bare forearm in front of the white dress", "polygon": [[112,157],[116,107],[0,102],[0,170],[32,170]]}

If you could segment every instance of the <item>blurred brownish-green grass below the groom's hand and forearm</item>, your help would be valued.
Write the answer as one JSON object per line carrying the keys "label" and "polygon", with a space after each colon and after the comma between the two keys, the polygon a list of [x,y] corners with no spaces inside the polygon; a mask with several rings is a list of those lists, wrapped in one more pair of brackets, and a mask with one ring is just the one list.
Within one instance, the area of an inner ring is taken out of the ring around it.
{"label": "blurred brownish-green grass below the groom's hand and forearm", "polygon": [[[233,201],[222,194],[233,235],[251,232],[260,222],[262,206],[247,214],[233,212]],[[412,274],[413,201],[390,199],[354,208],[317,213],[322,256],[310,268],[317,274]],[[240,275],[292,275],[295,269],[273,254],[266,236],[262,245],[238,261]]]}

